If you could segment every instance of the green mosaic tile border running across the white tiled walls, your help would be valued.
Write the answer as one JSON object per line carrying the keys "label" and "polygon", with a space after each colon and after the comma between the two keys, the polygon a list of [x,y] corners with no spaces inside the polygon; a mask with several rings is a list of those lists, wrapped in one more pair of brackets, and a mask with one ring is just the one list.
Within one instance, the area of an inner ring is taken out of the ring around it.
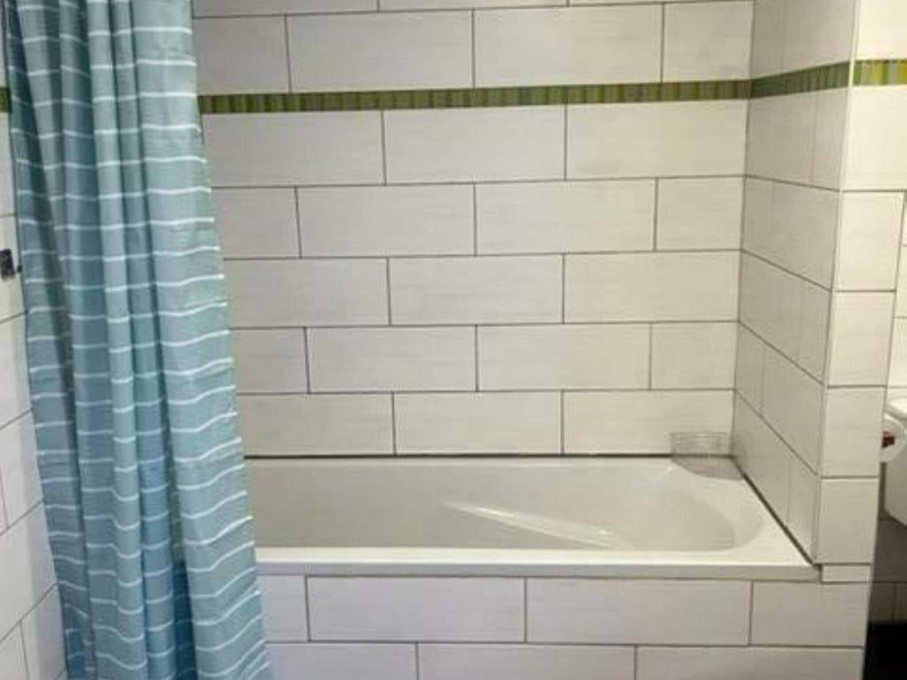
{"label": "green mosaic tile border running across the white tiled walls", "polygon": [[[532,87],[391,90],[382,92],[265,92],[206,94],[203,114],[319,111],[394,111],[402,109],[481,109],[499,106],[610,104],[633,102],[711,102],[757,99],[846,87],[850,63],[741,81],[692,83],[612,83]],[[860,61],[854,85],[907,85],[907,59]],[[9,112],[9,89],[0,87],[0,112]]]}

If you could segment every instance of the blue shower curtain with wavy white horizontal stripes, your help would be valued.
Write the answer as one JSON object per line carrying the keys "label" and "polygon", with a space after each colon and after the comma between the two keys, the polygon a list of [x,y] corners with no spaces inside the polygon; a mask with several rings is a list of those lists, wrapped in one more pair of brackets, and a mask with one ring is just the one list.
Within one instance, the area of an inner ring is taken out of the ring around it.
{"label": "blue shower curtain with wavy white horizontal stripes", "polygon": [[71,680],[266,678],[190,0],[4,0]]}

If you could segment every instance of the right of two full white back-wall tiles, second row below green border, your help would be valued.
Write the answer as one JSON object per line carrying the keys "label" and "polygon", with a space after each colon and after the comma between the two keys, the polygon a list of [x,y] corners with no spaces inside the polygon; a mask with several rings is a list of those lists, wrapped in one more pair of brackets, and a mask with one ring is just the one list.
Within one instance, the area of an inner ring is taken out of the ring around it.
{"label": "right of two full white back-wall tiles, second row below green border", "polygon": [[655,181],[481,184],[480,253],[651,250]]}

